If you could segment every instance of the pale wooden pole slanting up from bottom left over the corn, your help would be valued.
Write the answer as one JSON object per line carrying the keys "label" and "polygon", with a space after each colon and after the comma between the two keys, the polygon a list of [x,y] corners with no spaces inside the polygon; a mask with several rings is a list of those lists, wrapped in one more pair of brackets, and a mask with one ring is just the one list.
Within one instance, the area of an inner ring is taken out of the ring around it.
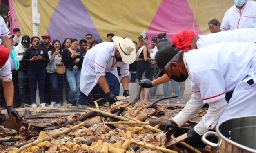
{"label": "pale wooden pole slanting up from bottom left over the corn", "polygon": [[68,128],[68,129],[65,129],[65,130],[63,130],[63,131],[59,131],[59,132],[53,133],[53,134],[50,135],[50,136],[45,136],[45,137],[43,137],[43,138],[41,138],[41,139],[38,139],[38,140],[36,140],[36,141],[33,141],[33,142],[29,143],[29,144],[26,144],[26,145],[20,147],[20,148],[19,148],[18,150],[16,150],[14,153],[20,153],[21,151],[23,151],[23,150],[25,150],[25,149],[27,149],[27,148],[29,148],[29,147],[31,147],[31,146],[35,146],[36,144],[39,144],[39,143],[41,143],[41,142],[48,141],[48,140],[51,140],[52,138],[56,138],[56,137],[58,137],[58,136],[61,136],[62,134],[66,134],[66,133],[69,133],[69,132],[71,132],[71,131],[74,131],[74,130],[78,129],[79,127],[82,127],[83,125],[85,125],[85,122],[81,122],[80,124],[75,125],[75,126],[73,126],[73,127],[70,127],[70,128]]}

